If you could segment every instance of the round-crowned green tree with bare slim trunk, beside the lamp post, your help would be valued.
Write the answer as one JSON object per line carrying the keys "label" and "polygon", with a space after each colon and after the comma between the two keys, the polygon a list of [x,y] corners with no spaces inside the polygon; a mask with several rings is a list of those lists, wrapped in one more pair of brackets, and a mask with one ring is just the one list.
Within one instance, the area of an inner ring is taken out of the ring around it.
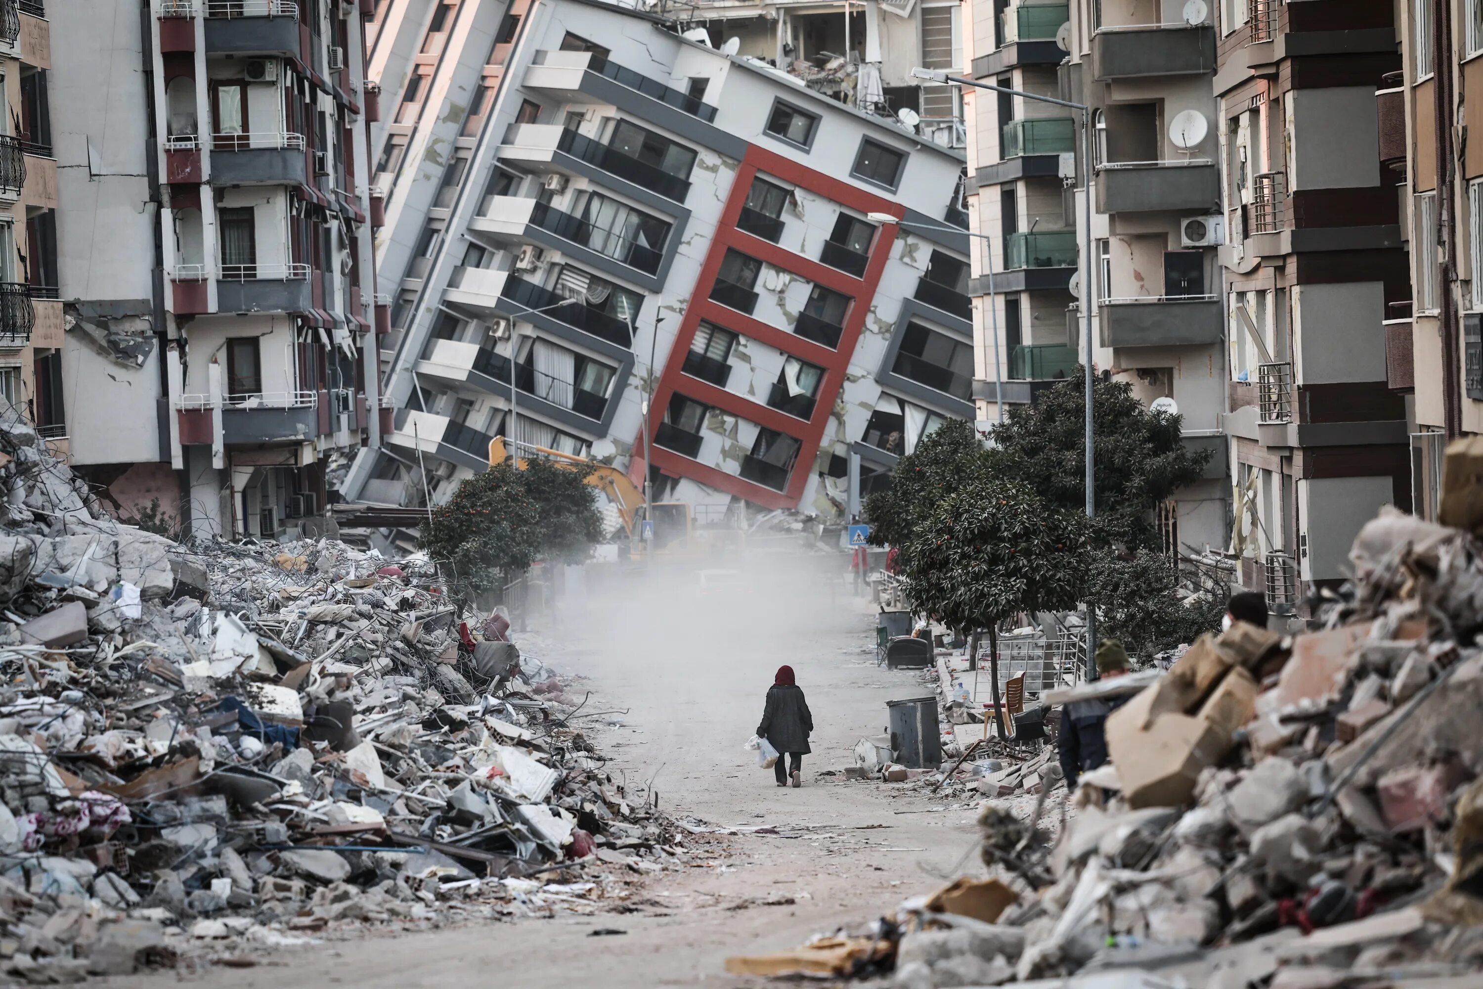
{"label": "round-crowned green tree with bare slim trunk, beside the lamp post", "polygon": [[911,599],[949,627],[989,630],[1003,737],[998,623],[1077,606],[1089,569],[1086,517],[1047,506],[1028,485],[980,477],[942,498],[908,546]]}

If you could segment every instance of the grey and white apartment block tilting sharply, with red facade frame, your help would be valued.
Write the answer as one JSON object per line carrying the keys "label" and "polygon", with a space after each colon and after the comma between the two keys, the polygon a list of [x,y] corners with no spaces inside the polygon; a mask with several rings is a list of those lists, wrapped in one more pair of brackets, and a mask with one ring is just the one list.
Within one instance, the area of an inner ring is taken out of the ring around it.
{"label": "grey and white apartment block tilting sharply, with red facade frame", "polygon": [[839,516],[851,452],[868,491],[971,417],[961,153],[661,16],[426,13],[448,39],[415,47],[458,64],[418,55],[427,104],[384,138],[423,150],[381,173],[396,411],[349,497],[443,500],[512,436],[635,480],[651,446],[664,500]]}

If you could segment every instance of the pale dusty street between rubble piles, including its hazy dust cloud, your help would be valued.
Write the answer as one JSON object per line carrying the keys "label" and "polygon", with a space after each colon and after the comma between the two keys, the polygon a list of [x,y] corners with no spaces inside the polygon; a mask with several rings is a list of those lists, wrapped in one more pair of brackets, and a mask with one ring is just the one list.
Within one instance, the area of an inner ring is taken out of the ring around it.
{"label": "pale dusty street between rubble piles, including its hazy dust cloud", "polygon": [[[704,583],[709,583],[704,581]],[[633,897],[641,912],[522,919],[258,952],[254,968],[160,973],[114,985],[280,989],[350,985],[752,986],[728,976],[734,953],[783,950],[857,925],[942,885],[973,844],[973,811],[927,810],[905,784],[819,777],[851,761],[862,734],[885,725],[885,701],[927,692],[914,672],[875,666],[875,620],[863,599],[830,593],[807,559],[750,560],[740,586],[661,572],[644,586],[589,590],[544,629],[569,646],[552,657],[587,678],[589,710],[629,709],[592,737],[630,784],[654,777],[660,805],[716,824],[810,826],[798,838],[712,838],[712,867],[660,873]],[[742,743],[756,728],[779,664],[798,675],[814,715],[804,787],[777,789]],[[599,722],[614,719],[596,719]],[[967,869],[982,870],[976,860]],[[746,906],[749,899],[793,904]],[[590,937],[595,928],[623,936]]]}

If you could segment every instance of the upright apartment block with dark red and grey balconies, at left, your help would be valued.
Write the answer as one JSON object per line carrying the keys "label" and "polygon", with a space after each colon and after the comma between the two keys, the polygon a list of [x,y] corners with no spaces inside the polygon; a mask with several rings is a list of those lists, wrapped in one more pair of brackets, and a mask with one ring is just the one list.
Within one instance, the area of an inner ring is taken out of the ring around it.
{"label": "upright apartment block with dark red and grey balconies, at left", "polygon": [[291,534],[377,434],[369,13],[47,4],[68,458],[126,515]]}

